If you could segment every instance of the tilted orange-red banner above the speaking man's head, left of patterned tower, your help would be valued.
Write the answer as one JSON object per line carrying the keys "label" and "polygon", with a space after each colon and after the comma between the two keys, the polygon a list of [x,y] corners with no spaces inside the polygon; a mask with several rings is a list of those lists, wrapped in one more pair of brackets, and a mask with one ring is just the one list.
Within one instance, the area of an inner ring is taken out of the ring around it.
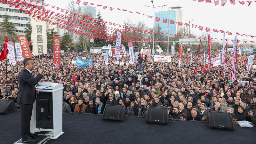
{"label": "tilted orange-red banner above the speaking man's head, left of patterned tower", "polygon": [[23,54],[24,59],[27,59],[27,58],[32,59],[27,37],[20,35],[20,36],[18,36],[18,38],[19,38],[19,41],[20,41],[20,48],[22,50],[22,54]]}

